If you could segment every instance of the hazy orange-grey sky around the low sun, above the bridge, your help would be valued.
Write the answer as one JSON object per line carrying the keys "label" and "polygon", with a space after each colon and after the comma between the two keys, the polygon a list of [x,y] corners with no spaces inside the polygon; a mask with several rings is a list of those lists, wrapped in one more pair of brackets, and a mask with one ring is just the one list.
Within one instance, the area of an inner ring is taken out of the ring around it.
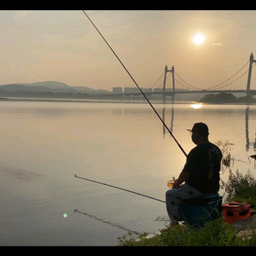
{"label": "hazy orange-grey sky around the low sun, above the bridge", "polygon": [[[230,78],[251,52],[256,59],[255,10],[86,13],[141,87],[151,87],[165,65],[174,65],[189,84],[207,88]],[[0,84],[55,80],[93,89],[135,87],[80,10],[0,11],[0,31]],[[196,33],[205,42],[195,44]]]}

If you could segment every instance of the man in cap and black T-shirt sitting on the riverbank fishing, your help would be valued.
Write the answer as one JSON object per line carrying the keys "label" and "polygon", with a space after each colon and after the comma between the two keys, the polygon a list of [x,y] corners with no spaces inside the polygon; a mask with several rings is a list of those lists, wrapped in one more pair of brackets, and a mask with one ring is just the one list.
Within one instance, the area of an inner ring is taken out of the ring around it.
{"label": "man in cap and black T-shirt sitting on the riverbank fishing", "polygon": [[166,209],[174,223],[183,220],[179,212],[183,200],[217,193],[219,189],[221,150],[209,142],[206,124],[195,123],[188,131],[196,147],[189,152],[183,171],[173,183],[173,189],[166,191]]}

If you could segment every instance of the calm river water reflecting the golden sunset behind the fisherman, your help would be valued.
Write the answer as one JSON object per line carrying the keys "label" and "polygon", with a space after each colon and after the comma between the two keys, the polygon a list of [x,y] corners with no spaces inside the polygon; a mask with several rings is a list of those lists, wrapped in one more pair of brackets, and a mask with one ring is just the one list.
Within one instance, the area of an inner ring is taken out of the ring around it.
{"label": "calm river water reflecting the golden sunset behind the fisherman", "polygon": [[[206,122],[210,141],[235,143],[234,169],[256,176],[255,105],[154,107],[187,153],[186,129]],[[128,232],[120,226],[164,227],[155,218],[167,217],[165,204],[73,176],[165,201],[185,157],[148,104],[2,101],[0,119],[0,245],[113,245]]]}

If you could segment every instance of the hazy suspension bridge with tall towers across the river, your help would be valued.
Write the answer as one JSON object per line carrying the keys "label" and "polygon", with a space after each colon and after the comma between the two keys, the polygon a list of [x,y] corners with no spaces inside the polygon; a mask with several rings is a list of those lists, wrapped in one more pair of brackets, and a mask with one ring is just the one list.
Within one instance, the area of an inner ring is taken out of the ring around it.
{"label": "hazy suspension bridge with tall towers across the river", "polygon": [[[243,65],[236,73],[234,73],[229,79],[225,79],[222,83],[214,84],[206,89],[201,89],[192,84],[189,84],[175,71],[174,66],[172,69],[168,69],[167,65],[164,72],[160,75],[160,78],[147,89],[142,89],[146,96],[151,95],[162,95],[163,101],[166,102],[166,96],[172,96],[172,101],[176,94],[191,94],[191,93],[220,93],[220,92],[230,92],[230,93],[245,93],[247,96],[256,95],[256,70],[253,68],[255,66],[256,60],[254,60],[253,53],[249,57],[249,61]],[[166,81],[172,75],[172,88],[166,88]],[[164,76],[163,82],[160,81]],[[253,83],[252,77],[254,76]],[[160,84],[159,84],[160,82]],[[253,86],[251,86],[253,84]],[[137,88],[125,88],[128,90],[119,91],[115,93],[113,90],[112,96],[141,96],[141,92]]]}

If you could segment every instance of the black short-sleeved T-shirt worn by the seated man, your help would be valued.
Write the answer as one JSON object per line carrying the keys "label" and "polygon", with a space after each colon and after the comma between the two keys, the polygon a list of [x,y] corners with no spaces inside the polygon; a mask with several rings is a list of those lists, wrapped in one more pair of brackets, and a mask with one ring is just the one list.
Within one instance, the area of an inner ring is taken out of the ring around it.
{"label": "black short-sleeved T-shirt worn by the seated man", "polygon": [[216,145],[197,145],[189,152],[183,168],[183,172],[189,172],[186,183],[204,194],[218,192],[221,159],[221,150]]}

